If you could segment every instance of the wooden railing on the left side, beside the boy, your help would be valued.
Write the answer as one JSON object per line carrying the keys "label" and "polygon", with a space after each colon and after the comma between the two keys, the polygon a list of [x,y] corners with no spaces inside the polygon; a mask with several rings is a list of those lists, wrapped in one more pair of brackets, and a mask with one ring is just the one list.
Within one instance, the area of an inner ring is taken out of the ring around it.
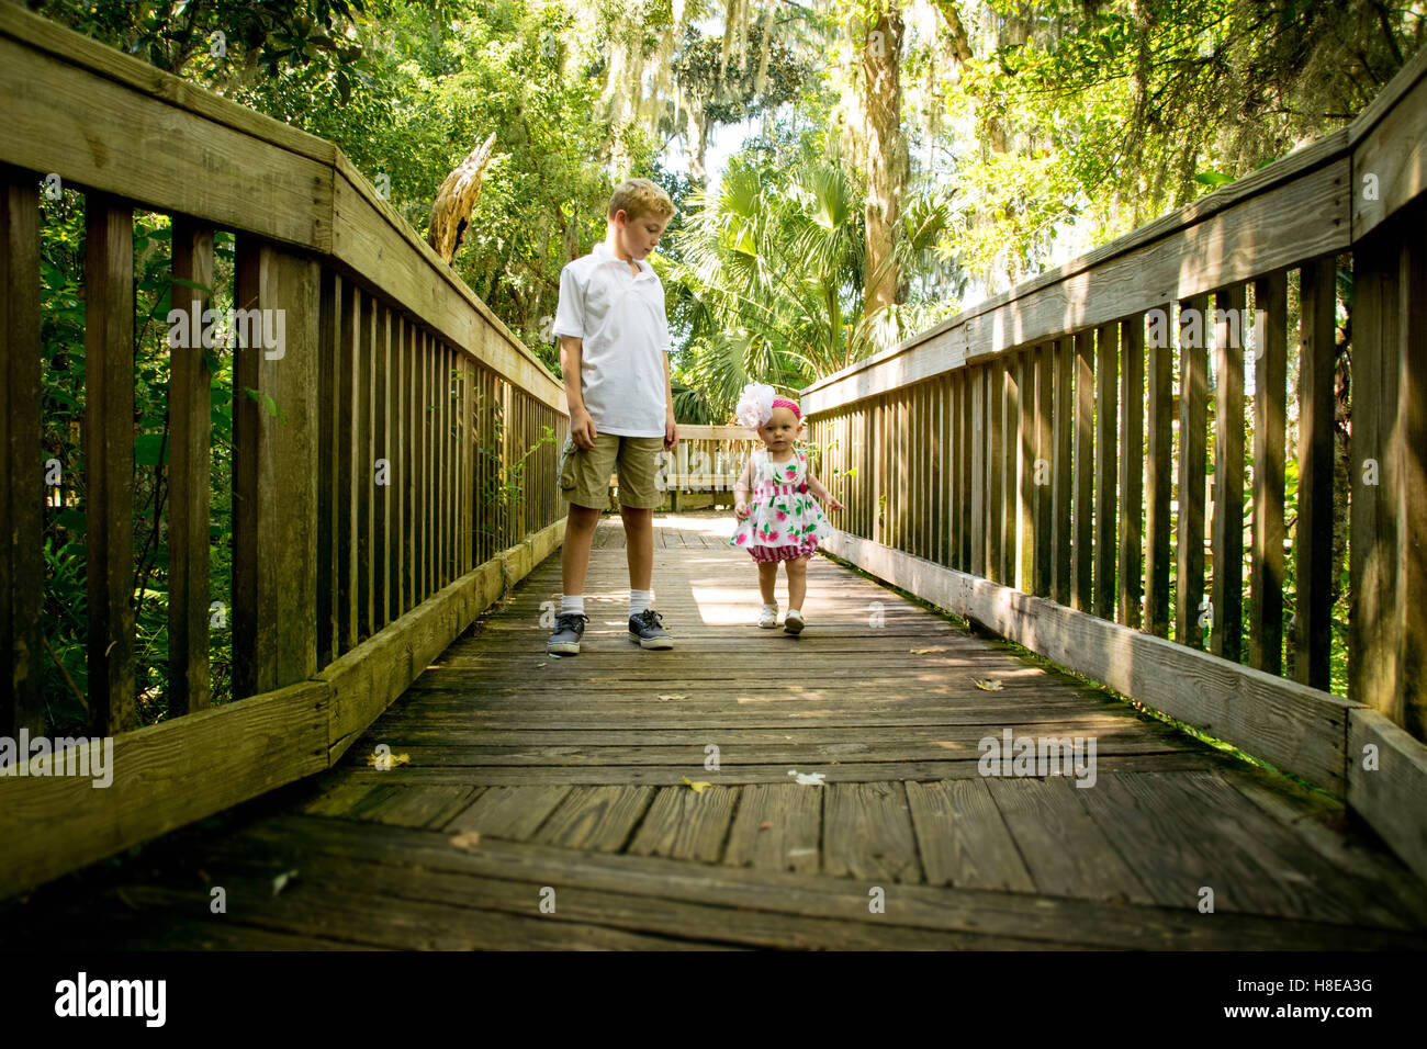
{"label": "wooden railing on the left side, beside the boy", "polygon": [[[84,197],[87,704],[90,735],[114,746],[108,789],[37,775],[44,762],[0,778],[3,896],[335,762],[558,545],[567,411],[561,384],[330,143],[14,4],[0,4],[0,736],[47,729],[49,184]],[[231,594],[210,592],[213,377],[195,333],[168,343],[171,684],[167,719],[143,728],[136,210],[173,218],[176,307],[197,301],[201,318],[221,298],[258,320],[228,391]],[[231,287],[217,287],[215,230],[237,238]],[[215,601],[231,609],[234,702],[210,706]]]}

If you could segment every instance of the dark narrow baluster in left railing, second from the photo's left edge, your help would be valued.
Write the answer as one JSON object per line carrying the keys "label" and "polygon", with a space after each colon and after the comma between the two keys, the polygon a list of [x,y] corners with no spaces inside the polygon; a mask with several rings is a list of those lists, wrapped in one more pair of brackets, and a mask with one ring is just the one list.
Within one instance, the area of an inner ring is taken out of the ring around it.
{"label": "dark narrow baluster in left railing, second from the photo's left edge", "polygon": [[[96,735],[138,726],[134,701],[134,213],[84,208],[88,702]],[[237,568],[237,558],[234,558]]]}

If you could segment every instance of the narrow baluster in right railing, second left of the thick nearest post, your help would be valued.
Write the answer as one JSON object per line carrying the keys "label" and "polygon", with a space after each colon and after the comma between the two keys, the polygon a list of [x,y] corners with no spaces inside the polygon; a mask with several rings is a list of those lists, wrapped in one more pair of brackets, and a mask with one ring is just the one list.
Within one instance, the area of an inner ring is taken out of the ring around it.
{"label": "narrow baluster in right railing, second left of the thick nearest post", "polygon": [[[1289,278],[1254,281],[1253,562],[1249,581],[1249,662],[1283,672],[1283,428],[1287,415]],[[1356,371],[1356,370],[1354,370]],[[1360,402],[1361,404],[1361,402]],[[1354,411],[1357,415],[1357,411]],[[1357,418],[1353,421],[1354,450]],[[1356,501],[1354,501],[1356,505]],[[1356,542],[1356,541],[1354,541]]]}

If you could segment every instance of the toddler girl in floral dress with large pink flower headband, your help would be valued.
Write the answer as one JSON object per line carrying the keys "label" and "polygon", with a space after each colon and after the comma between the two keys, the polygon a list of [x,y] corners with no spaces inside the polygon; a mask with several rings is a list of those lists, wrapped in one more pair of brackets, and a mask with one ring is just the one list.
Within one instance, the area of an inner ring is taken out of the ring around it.
{"label": "toddler girl in floral dress with large pink flower headband", "polygon": [[[793,440],[803,428],[796,402],[776,397],[771,385],[749,382],[738,402],[738,421],[756,431],[763,447],[749,457],[733,485],[733,514],[739,525],[729,545],[743,547],[758,562],[758,588],[763,595],[758,625],[768,629],[778,625],[773,587],[778,562],[786,562],[788,615],[783,629],[799,634],[805,625],[802,602],[808,592],[808,561],[818,549],[818,541],[832,535],[832,525],[816,500],[825,501],[828,510],[843,507],[813,477],[808,458],[793,448]],[[748,501],[749,485],[752,502]]]}

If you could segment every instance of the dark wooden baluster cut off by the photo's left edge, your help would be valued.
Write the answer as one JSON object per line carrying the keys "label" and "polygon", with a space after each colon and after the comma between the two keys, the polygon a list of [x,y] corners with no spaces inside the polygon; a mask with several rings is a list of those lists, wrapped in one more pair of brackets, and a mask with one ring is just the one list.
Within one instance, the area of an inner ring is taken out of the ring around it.
{"label": "dark wooden baluster cut off by the photo's left edge", "polygon": [[[44,457],[40,444],[40,193],[0,180],[0,735],[44,732]],[[61,462],[64,471],[74,464]],[[60,491],[63,491],[63,484]]]}

